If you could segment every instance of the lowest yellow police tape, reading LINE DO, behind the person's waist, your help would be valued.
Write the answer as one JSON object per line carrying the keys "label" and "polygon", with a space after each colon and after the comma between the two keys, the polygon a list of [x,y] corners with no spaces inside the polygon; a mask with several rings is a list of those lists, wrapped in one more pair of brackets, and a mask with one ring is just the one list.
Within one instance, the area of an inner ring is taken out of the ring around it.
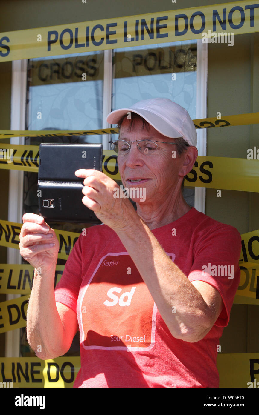
{"label": "lowest yellow police tape, reading LINE DO, behind the person's waist", "polygon": [[[49,360],[36,356],[0,357],[0,364],[1,388],[72,388],[81,367],[79,356]],[[220,388],[258,388],[258,364],[259,353],[218,352]]]}

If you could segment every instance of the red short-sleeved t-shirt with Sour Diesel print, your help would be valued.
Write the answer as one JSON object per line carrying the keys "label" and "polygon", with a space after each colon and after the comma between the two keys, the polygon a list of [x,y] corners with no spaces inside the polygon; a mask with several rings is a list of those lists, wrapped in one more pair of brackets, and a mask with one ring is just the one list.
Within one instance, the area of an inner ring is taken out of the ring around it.
{"label": "red short-sleeved t-shirt with Sour Diesel print", "polygon": [[222,312],[199,342],[175,339],[116,233],[106,225],[87,228],[55,288],[56,301],[79,323],[74,388],[219,387],[217,346],[239,286],[240,234],[194,207],[152,232],[186,278],[219,291]]}

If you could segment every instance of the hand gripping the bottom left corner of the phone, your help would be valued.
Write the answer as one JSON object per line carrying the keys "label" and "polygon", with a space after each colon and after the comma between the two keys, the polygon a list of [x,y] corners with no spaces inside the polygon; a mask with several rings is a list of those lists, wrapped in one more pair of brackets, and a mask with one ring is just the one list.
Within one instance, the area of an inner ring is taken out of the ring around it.
{"label": "hand gripping the bottom left corner of the phone", "polygon": [[34,213],[25,213],[20,232],[20,254],[34,268],[49,270],[56,266],[59,242],[54,229],[44,218]]}

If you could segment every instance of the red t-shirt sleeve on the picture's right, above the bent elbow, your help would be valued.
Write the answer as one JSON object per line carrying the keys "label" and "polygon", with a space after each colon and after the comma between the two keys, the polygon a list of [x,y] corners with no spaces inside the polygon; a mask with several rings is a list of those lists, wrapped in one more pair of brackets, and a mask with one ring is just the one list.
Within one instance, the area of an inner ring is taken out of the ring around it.
{"label": "red t-shirt sleeve on the picture's right, above the bent elbow", "polygon": [[230,310],[240,283],[240,252],[241,235],[229,225],[211,229],[200,236],[196,244],[188,279],[205,281],[219,291],[223,308],[214,323],[218,327],[226,327],[229,322]]}

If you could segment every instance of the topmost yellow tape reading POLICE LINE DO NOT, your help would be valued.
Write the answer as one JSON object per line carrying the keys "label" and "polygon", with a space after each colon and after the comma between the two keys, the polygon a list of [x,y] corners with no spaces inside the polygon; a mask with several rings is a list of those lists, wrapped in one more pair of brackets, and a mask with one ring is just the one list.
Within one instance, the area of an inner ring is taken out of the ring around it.
{"label": "topmost yellow tape reading POLICE LINE DO NOT", "polygon": [[237,1],[4,32],[0,33],[0,61],[190,39],[205,42],[204,33],[214,39],[222,32],[229,36],[257,32],[258,7],[256,1]]}

